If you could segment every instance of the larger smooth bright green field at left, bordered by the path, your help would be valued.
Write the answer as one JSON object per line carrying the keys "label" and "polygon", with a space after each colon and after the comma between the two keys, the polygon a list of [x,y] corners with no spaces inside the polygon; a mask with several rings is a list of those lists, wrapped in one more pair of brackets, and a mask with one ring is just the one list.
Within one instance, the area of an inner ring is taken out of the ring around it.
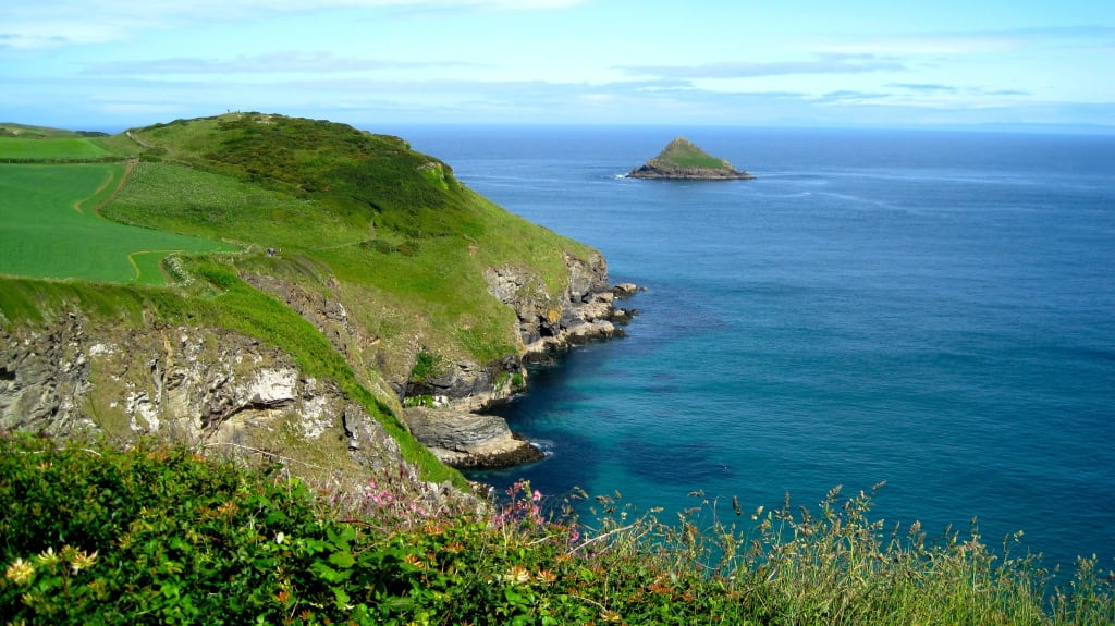
{"label": "larger smooth bright green field at left, bordered by the path", "polygon": [[0,274],[162,284],[167,254],[231,250],[95,213],[124,172],[118,164],[0,165]]}

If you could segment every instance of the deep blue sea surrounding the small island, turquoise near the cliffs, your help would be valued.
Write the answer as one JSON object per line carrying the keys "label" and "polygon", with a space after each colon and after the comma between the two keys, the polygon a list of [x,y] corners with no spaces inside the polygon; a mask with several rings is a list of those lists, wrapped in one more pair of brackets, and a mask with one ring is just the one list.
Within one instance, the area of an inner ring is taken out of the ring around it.
{"label": "deep blue sea surrounding the small island, turquoise near the cliffs", "polygon": [[[505,411],[549,457],[477,478],[748,510],[886,481],[888,525],[977,517],[992,546],[1021,529],[1049,565],[1112,567],[1115,138],[372,130],[648,287],[626,339],[533,372]],[[676,135],[757,178],[618,177]]]}

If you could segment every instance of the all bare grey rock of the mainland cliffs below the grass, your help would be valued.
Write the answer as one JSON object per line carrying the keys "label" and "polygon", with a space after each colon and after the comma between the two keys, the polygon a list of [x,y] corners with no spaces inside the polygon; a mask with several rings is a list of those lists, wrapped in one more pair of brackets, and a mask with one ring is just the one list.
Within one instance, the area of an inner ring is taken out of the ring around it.
{"label": "all bare grey rock of the mainland cliffs below the grass", "polygon": [[[505,266],[486,273],[489,293],[515,310],[518,354],[496,363],[457,361],[426,379],[386,381],[396,410],[415,437],[459,468],[500,467],[541,457],[507,423],[486,414],[505,399],[524,360],[574,343],[622,334],[602,256],[566,255],[568,287],[554,296],[541,277]],[[317,326],[352,363],[378,339],[349,317],[336,284],[308,288],[274,276],[246,280]],[[417,358],[415,345],[410,363]],[[384,381],[365,381],[384,384]],[[403,410],[408,392],[436,397],[434,405]],[[281,350],[219,329],[108,329],[80,313],[40,329],[0,331],[0,428],[56,433],[103,432],[125,439],[161,434],[214,449],[317,460],[356,473],[396,471],[398,444],[333,383],[302,374]],[[405,463],[403,463],[405,464]],[[411,471],[414,475],[414,472]],[[416,482],[417,475],[411,478]]]}

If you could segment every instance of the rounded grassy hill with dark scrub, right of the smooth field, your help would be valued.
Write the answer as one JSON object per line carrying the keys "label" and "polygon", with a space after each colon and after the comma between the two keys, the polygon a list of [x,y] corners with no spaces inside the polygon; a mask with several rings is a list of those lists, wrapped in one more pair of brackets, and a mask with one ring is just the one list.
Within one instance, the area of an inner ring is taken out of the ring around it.
{"label": "rounded grassy hill with dark scrub, right of the smooth field", "polygon": [[106,215],[324,263],[372,299],[360,304],[414,320],[449,358],[514,350],[513,313],[486,295],[485,267],[530,266],[556,294],[563,253],[591,252],[492,205],[395,137],[252,114],[133,133],[163,162],[140,164]]}

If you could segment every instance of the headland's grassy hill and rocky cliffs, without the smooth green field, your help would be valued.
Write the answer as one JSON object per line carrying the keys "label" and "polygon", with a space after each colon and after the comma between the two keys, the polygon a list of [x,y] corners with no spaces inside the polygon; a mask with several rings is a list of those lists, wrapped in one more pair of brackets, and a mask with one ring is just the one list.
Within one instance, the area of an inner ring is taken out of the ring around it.
{"label": "headland's grassy hill and rocky cliffs, without the smooth green field", "polygon": [[132,159],[98,213],[239,252],[168,256],[158,287],[0,266],[3,429],[155,434],[356,482],[405,467],[437,495],[465,483],[442,463],[536,458],[485,409],[530,359],[630,317],[599,252],[397,137],[230,114],[96,140]]}

